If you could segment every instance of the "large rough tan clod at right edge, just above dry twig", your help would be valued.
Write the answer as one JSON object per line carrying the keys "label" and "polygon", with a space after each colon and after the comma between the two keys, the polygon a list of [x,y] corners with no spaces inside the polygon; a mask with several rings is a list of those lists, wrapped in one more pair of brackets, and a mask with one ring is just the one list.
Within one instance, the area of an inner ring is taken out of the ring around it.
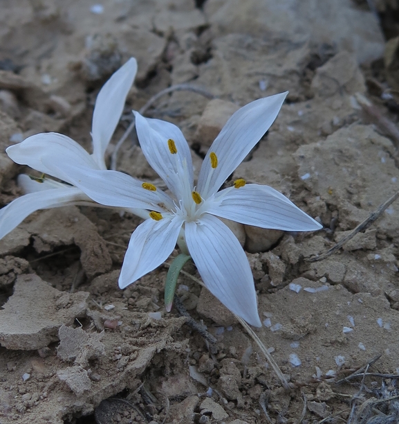
{"label": "large rough tan clod at right edge, just above dry twig", "polygon": [[[302,145],[295,153],[305,186],[339,211],[339,229],[353,229],[398,190],[399,171],[393,144],[373,127],[353,124],[323,143]],[[399,236],[398,211],[390,206],[378,220],[378,231]]]}

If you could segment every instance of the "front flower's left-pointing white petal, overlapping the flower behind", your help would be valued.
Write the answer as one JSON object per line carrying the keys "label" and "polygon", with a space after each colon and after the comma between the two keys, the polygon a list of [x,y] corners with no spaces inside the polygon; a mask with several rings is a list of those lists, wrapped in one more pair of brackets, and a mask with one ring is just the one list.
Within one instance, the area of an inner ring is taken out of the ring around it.
{"label": "front flower's left-pointing white petal, overlapping the flower behind", "polygon": [[[163,191],[145,190],[138,179],[118,171],[92,170],[75,166],[64,166],[64,170],[71,175],[70,180],[74,186],[79,187],[95,202],[105,206],[149,209],[157,212],[165,211],[160,203],[173,206],[170,197]],[[147,214],[145,218],[148,216]]]}

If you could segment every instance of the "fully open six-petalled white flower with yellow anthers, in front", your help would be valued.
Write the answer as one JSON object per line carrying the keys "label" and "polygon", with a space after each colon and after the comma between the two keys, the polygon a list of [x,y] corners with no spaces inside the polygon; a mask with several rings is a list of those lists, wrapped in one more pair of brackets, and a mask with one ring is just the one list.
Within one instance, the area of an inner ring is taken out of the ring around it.
{"label": "fully open six-petalled white flower with yellow anthers, in front", "polygon": [[229,119],[203,161],[196,187],[189,146],[178,127],[135,112],[142,152],[171,196],[123,173],[72,167],[71,161],[64,164],[57,152],[41,159],[46,166],[62,170],[95,202],[147,209],[149,219],[131,236],[120,288],[162,264],[178,242],[188,248],[210,292],[249,324],[261,326],[245,252],[218,217],[285,231],[313,231],[321,226],[268,186],[239,179],[234,186],[218,190],[275,121],[285,97],[286,93],[255,100]]}

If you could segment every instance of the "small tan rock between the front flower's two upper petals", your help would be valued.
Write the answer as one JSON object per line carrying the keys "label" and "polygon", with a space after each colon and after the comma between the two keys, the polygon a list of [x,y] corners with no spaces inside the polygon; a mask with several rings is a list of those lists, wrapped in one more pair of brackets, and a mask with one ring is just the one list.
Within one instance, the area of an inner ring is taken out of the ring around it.
{"label": "small tan rock between the front flower's two upper petals", "polygon": [[205,148],[210,148],[216,136],[228,121],[230,116],[239,109],[239,106],[232,102],[215,98],[207,103],[198,123],[194,141],[200,143]]}

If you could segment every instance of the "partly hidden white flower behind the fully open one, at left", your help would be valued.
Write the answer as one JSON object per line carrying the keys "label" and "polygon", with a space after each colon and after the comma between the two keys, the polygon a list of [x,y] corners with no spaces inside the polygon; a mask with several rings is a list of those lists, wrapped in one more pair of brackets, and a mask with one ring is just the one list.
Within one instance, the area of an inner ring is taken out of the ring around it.
{"label": "partly hidden white flower behind the fully open one, at left", "polygon": [[68,204],[93,204],[80,188],[57,170],[48,168],[38,159],[41,151],[64,148],[64,161],[74,166],[91,169],[106,169],[104,154],[111,141],[123,111],[124,103],[137,72],[136,59],[129,59],[100,90],[95,101],[92,124],[93,154],[89,154],[78,143],[67,136],[49,132],[28,137],[19,144],[6,149],[8,156],[17,164],[29,165],[41,173],[52,175],[72,184],[63,184],[53,179],[31,179],[19,175],[18,184],[27,193],[0,210],[0,238],[17,227],[30,213]]}

